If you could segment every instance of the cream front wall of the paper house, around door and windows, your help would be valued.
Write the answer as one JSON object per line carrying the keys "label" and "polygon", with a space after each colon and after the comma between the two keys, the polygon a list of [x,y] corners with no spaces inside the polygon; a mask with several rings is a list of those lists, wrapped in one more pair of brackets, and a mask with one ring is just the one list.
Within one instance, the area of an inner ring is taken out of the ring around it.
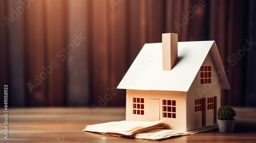
{"label": "cream front wall of the paper house, around door and windows", "polygon": [[[180,91],[126,89],[126,121],[152,121],[153,110],[159,108],[159,118],[157,115],[155,117],[168,123],[170,129],[184,131],[186,130],[185,97],[186,92]],[[144,98],[144,115],[133,114],[133,98]],[[151,99],[159,99],[159,105],[150,105]],[[163,117],[162,100],[176,101],[176,106],[173,106],[176,107],[176,118]]]}

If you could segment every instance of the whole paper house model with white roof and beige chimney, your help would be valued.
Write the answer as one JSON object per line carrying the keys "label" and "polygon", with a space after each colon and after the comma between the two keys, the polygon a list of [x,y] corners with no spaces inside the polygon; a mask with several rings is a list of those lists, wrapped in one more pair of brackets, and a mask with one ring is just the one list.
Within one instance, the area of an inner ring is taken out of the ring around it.
{"label": "whole paper house model with white roof and beige chimney", "polygon": [[215,41],[146,43],[118,85],[126,121],[165,121],[189,131],[217,123],[221,89],[230,89]]}

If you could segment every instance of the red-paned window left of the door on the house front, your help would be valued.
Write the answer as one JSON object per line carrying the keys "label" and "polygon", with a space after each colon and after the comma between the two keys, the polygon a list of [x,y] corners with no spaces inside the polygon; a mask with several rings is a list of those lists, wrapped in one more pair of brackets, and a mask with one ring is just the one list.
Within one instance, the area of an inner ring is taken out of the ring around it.
{"label": "red-paned window left of the door on the house front", "polygon": [[133,98],[133,114],[144,115],[143,98]]}

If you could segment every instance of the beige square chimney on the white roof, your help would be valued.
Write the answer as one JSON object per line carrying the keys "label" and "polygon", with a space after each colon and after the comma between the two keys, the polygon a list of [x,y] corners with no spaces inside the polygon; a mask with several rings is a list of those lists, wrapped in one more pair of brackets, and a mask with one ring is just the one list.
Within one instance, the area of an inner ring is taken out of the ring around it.
{"label": "beige square chimney on the white roof", "polygon": [[171,70],[178,58],[178,34],[162,34],[163,70]]}

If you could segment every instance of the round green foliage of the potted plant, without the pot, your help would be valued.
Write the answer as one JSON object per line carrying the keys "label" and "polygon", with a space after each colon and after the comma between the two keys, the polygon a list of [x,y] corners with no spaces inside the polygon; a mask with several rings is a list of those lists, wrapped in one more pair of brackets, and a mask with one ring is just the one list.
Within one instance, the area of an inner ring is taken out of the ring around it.
{"label": "round green foliage of the potted plant, without the pot", "polygon": [[222,105],[218,109],[218,120],[233,120],[237,115],[236,111],[229,105]]}

